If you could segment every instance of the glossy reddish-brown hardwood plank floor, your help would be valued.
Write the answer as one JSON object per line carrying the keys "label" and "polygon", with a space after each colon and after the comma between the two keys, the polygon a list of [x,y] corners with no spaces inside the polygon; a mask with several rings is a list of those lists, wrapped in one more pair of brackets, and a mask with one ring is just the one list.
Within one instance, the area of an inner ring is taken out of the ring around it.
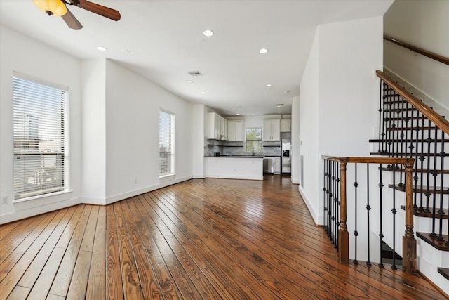
{"label": "glossy reddish-brown hardwood plank floor", "polygon": [[445,299],[340,265],[290,178],[194,179],[0,226],[0,299]]}

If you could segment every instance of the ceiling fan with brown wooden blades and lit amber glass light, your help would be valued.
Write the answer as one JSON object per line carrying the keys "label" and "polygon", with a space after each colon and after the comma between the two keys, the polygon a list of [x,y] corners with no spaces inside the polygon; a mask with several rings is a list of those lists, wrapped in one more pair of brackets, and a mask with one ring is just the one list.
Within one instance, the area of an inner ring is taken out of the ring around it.
{"label": "ceiling fan with brown wooden blades and lit amber glass light", "polygon": [[86,9],[86,11],[91,11],[92,13],[102,15],[114,21],[120,20],[121,17],[119,11],[87,0],[33,0],[33,3],[47,15],[62,17],[62,20],[70,28],[75,30],[83,28],[83,25],[69,11],[67,5],[78,6],[79,8]]}

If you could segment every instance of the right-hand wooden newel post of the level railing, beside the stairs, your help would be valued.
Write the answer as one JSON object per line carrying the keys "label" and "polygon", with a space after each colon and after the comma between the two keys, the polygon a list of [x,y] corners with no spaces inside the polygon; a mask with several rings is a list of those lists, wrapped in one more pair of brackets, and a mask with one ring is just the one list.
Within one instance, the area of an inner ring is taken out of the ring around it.
{"label": "right-hand wooden newel post of the level railing, beside the stairs", "polygon": [[406,233],[402,238],[402,269],[407,273],[417,272],[416,239],[413,235],[413,183],[414,159],[406,162]]}

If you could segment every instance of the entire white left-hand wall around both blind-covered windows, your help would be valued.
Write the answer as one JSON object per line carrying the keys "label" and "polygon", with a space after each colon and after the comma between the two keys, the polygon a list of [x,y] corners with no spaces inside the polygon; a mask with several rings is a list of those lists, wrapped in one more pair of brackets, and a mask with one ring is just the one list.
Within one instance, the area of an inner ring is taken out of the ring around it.
{"label": "entire white left-hand wall around both blind-covered windows", "polygon": [[[110,60],[81,60],[0,27],[0,223],[108,204],[192,178],[193,105]],[[70,191],[12,203],[13,72],[69,87]],[[159,179],[159,109],[175,120],[175,176]],[[203,155],[203,152],[202,152]]]}

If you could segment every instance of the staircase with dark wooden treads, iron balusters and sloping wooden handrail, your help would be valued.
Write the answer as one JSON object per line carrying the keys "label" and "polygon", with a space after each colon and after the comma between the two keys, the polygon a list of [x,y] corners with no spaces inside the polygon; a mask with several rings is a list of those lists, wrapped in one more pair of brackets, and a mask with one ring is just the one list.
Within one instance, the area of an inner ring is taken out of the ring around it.
{"label": "staircase with dark wooden treads, iron balusters and sloping wooden handrail", "polygon": [[[449,174],[449,122],[441,116],[443,107],[436,103],[431,104],[435,110],[429,107],[429,99],[391,72],[378,71],[377,75],[382,79],[380,120],[378,137],[370,140],[371,154],[415,158],[413,214],[418,269],[439,287],[448,287],[449,175],[445,174]],[[391,164],[381,171],[395,172],[399,182],[389,188],[405,191],[403,167]]]}

